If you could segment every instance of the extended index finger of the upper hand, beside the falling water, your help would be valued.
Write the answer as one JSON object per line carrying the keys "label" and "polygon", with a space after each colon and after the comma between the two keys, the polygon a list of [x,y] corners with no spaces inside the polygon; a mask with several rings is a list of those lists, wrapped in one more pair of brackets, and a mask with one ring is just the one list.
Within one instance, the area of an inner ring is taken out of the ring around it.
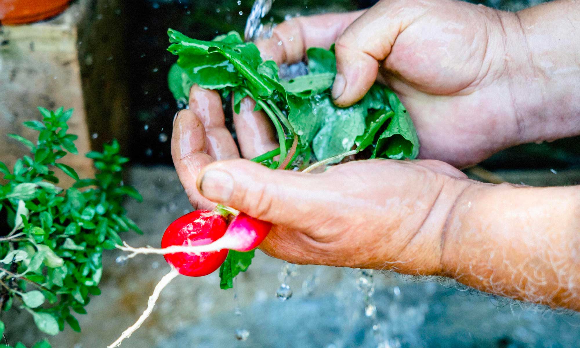
{"label": "extended index finger of the upper hand, beside the falling water", "polygon": [[295,17],[279,24],[272,37],[256,42],[264,60],[276,64],[302,61],[311,47],[328,49],[365,10]]}

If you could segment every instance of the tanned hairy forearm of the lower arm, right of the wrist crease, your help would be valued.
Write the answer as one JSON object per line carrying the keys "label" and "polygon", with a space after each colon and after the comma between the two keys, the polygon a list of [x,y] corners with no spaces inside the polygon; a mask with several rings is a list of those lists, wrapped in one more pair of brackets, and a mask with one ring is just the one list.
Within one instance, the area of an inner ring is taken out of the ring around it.
{"label": "tanned hairy forearm of the lower arm, right of the wrist crease", "polygon": [[580,310],[580,186],[474,184],[450,215],[442,261],[470,287]]}

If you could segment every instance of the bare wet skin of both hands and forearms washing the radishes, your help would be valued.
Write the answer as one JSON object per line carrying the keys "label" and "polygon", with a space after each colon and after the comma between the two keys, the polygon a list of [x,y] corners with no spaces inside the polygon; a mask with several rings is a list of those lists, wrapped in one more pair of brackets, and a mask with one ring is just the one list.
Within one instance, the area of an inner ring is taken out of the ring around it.
{"label": "bare wet skin of both hands and forearms washing the radishes", "polygon": [[[580,187],[483,184],[436,161],[462,167],[514,144],[580,134],[580,4],[507,13],[388,0],[366,12],[292,19],[258,46],[266,59],[293,63],[332,42],[336,103],[356,102],[375,78],[389,84],[429,160],[349,162],[321,174],[211,163],[240,154],[217,93],[194,87],[172,139],[192,204],[219,202],[274,223],[260,248],[290,262],[448,276],[580,310]],[[244,158],[276,147],[269,121],[252,107],[245,101],[234,115]]]}

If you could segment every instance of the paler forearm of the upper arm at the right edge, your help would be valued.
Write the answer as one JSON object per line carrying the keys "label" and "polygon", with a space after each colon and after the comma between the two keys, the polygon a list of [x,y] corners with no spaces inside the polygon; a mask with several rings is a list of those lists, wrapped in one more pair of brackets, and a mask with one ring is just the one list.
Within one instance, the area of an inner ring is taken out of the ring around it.
{"label": "paler forearm of the upper arm at the right edge", "polygon": [[507,16],[506,57],[521,142],[580,135],[580,2]]}

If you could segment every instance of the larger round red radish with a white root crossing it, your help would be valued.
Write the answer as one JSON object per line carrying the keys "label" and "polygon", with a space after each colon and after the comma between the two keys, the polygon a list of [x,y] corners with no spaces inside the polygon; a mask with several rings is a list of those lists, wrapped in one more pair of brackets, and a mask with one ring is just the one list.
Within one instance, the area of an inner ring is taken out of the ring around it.
{"label": "larger round red radish with a white root crossing it", "polygon": [[[206,210],[183,215],[172,222],[161,239],[161,248],[172,245],[206,245],[226,233],[227,223],[223,216]],[[227,249],[202,252],[200,255],[177,252],[165,254],[165,261],[172,264],[180,274],[189,277],[206,276],[218,269],[227,257]]]}

